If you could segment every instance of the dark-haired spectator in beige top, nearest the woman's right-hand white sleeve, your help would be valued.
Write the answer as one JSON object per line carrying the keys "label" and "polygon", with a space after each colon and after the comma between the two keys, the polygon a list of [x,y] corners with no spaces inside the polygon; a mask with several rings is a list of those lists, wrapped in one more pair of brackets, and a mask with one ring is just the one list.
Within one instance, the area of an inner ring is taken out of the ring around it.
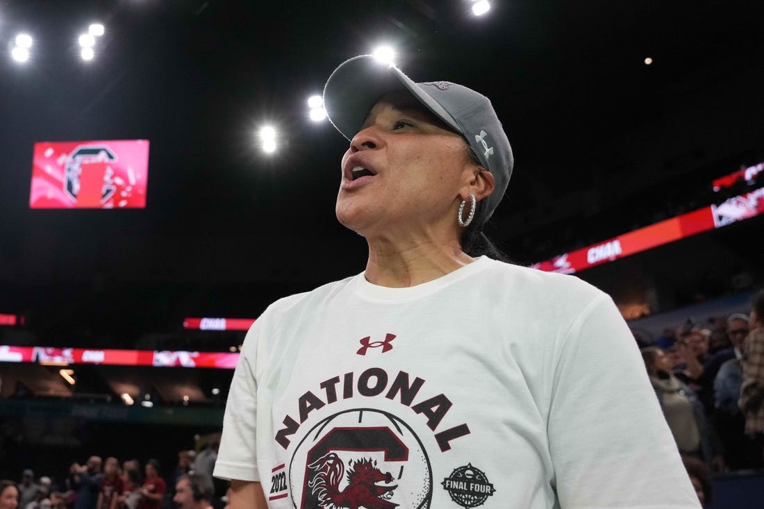
{"label": "dark-haired spectator in beige top, nearest the woman's right-hand white sleeve", "polygon": [[718,470],[724,469],[718,439],[695,392],[672,373],[674,366],[662,349],[651,346],[641,352],[679,452],[711,462]]}

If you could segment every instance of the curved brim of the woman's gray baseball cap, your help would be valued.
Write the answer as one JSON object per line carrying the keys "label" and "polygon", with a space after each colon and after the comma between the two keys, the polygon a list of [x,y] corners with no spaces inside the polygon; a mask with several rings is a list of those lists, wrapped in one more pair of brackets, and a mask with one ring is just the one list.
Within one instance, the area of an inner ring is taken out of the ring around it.
{"label": "curved brim of the woman's gray baseball cap", "polygon": [[324,87],[324,109],[329,121],[351,140],[374,104],[388,92],[406,90],[429,111],[464,135],[451,115],[396,66],[382,63],[371,55],[345,60],[335,69]]}

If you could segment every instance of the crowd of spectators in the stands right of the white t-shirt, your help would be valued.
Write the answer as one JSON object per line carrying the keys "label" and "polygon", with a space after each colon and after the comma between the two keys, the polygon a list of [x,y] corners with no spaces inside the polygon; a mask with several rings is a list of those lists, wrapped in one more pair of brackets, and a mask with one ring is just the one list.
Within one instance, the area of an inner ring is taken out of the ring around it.
{"label": "crowd of spectators in the stands right of the white t-shirt", "polygon": [[683,458],[696,472],[764,468],[764,290],[750,314],[688,320],[637,339]]}

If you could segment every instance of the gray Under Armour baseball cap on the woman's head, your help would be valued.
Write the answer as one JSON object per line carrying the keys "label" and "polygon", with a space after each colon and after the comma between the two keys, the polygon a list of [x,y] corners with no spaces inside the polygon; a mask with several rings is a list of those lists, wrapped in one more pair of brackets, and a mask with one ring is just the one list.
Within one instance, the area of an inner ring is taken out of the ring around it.
{"label": "gray Under Armour baseball cap on the woman's head", "polygon": [[486,196],[474,224],[481,225],[494,213],[507,190],[514,163],[507,134],[482,94],[448,81],[414,83],[396,66],[371,55],[345,60],[324,87],[324,108],[329,120],[351,140],[361,130],[374,104],[388,92],[410,92],[435,116],[462,135],[478,155],[481,165],[494,176],[496,189]]}

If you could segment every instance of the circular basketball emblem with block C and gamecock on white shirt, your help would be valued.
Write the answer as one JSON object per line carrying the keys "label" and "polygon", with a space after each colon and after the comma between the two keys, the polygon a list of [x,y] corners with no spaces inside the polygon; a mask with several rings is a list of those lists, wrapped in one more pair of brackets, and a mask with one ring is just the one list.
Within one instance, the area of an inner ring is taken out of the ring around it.
{"label": "circular basketball emblem with block C and gamecock on white shirt", "polygon": [[400,418],[371,408],[335,413],[313,426],[295,449],[289,476],[299,509],[428,509],[432,501],[422,441]]}

